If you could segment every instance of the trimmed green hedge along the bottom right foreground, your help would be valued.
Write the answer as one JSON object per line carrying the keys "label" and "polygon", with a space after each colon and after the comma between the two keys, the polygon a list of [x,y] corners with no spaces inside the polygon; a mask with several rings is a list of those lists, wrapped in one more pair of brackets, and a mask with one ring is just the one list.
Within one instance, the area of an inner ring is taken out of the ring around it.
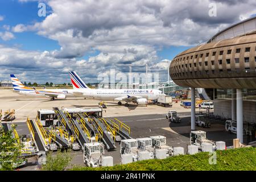
{"label": "trimmed green hedge along the bottom right foreground", "polygon": [[200,152],[195,155],[179,155],[167,159],[150,159],[113,167],[73,167],[71,170],[98,171],[154,171],[154,170],[254,170],[256,171],[256,148],[245,147],[217,151],[217,164],[209,164],[209,153]]}

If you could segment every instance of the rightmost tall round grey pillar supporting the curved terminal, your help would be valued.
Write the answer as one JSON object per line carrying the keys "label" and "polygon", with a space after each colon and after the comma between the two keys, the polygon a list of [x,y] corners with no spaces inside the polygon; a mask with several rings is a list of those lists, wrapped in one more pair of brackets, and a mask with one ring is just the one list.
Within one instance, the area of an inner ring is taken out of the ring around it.
{"label": "rightmost tall round grey pillar supporting the curved terminal", "polygon": [[243,97],[242,89],[237,89],[237,138],[243,143]]}

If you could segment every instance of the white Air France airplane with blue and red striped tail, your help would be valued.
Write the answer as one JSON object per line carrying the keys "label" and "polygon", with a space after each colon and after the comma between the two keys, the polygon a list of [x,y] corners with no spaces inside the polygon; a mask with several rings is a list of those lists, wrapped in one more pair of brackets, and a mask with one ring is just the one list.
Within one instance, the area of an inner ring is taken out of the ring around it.
{"label": "white Air France airplane with blue and red striped tail", "polygon": [[73,94],[77,97],[85,97],[100,101],[118,101],[118,105],[122,105],[121,101],[133,102],[138,105],[146,105],[147,100],[158,99],[162,91],[156,89],[90,89],[76,72],[69,72],[73,85]]}

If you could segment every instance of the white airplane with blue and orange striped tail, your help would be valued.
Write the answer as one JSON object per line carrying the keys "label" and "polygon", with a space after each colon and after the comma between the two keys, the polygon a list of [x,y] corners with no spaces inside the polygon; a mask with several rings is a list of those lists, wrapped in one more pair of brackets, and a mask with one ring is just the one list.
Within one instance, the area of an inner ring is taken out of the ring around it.
{"label": "white airplane with blue and orange striped tail", "polygon": [[29,88],[22,84],[15,75],[11,76],[11,82],[13,83],[13,90],[15,93],[24,96],[33,96],[33,97],[49,97],[51,100],[55,98],[64,100],[67,97],[76,97],[73,94],[73,89],[35,89]]}

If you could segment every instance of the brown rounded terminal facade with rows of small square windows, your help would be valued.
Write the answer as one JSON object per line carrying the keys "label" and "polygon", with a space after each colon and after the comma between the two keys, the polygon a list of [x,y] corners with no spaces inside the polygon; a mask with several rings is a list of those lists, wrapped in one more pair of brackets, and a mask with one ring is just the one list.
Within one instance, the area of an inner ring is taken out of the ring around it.
{"label": "brown rounded terminal facade with rows of small square windows", "polygon": [[194,88],[256,88],[256,33],[212,42],[177,55],[170,76]]}

